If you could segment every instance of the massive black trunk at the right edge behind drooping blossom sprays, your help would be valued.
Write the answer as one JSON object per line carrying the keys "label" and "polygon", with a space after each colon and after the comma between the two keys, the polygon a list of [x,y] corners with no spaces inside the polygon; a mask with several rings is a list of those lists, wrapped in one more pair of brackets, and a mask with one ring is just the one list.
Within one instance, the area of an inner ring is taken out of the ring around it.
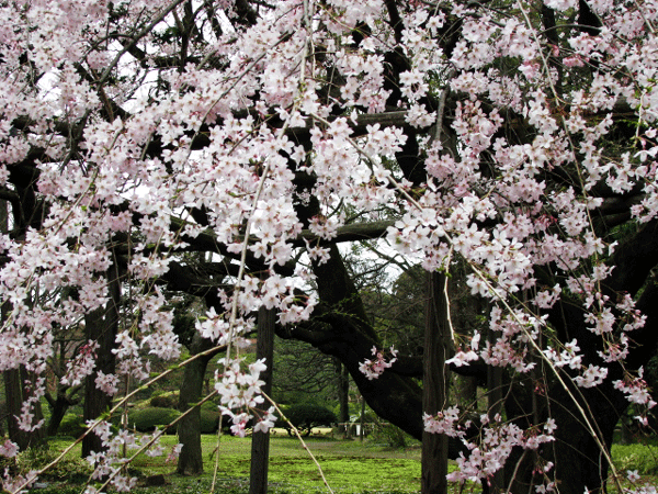
{"label": "massive black trunk at the right edge behind drooping blossom sprays", "polygon": [[[636,370],[646,366],[656,352],[658,335],[658,287],[651,269],[658,263],[658,222],[644,225],[635,235],[620,245],[611,260],[616,266],[605,280],[605,294],[615,300],[619,293],[636,295],[642,289],[636,308],[647,317],[642,329],[628,336],[636,343],[625,360],[626,369]],[[577,388],[565,375],[568,389],[553,375],[546,375],[545,393],[535,396],[540,420],[551,415],[557,425],[556,440],[544,445],[537,452],[555,463],[555,478],[561,492],[580,492],[587,486],[592,493],[605,491],[609,462],[601,446],[610,450],[614,428],[628,407],[628,402],[614,389],[613,382],[623,379],[623,369],[616,363],[605,363],[598,352],[602,351],[601,337],[587,328],[585,311],[580,304],[563,300],[553,308],[551,323],[563,341],[576,338],[585,356],[585,364],[604,366],[608,377],[602,384],[592,389]],[[561,372],[566,372],[563,370]],[[514,385],[504,407],[509,417],[523,417],[518,420],[521,427],[532,425],[532,390],[534,383],[527,380],[524,385]],[[537,400],[537,398],[542,400]],[[537,422],[536,419],[534,422]],[[515,451],[506,469],[506,482],[514,481],[512,492],[525,492],[537,482],[533,476],[534,462],[531,454]],[[512,478],[512,474],[513,478]]]}

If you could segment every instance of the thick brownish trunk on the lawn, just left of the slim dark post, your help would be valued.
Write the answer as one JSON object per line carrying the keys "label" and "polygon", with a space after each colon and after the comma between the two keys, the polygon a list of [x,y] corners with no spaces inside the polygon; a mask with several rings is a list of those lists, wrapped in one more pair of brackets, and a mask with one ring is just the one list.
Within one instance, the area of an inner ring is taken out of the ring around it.
{"label": "thick brownish trunk on the lawn, just left of the slim dark post", "polygon": [[[190,344],[190,353],[198,355],[213,346],[213,341],[202,338],[196,333]],[[214,355],[216,353],[200,357],[185,367],[179,394],[181,412],[186,412],[190,405],[201,401],[206,369]],[[195,406],[178,423],[178,435],[183,448],[178,458],[177,472],[181,475],[200,475],[203,473],[203,456],[201,451],[201,408],[198,406]]]}

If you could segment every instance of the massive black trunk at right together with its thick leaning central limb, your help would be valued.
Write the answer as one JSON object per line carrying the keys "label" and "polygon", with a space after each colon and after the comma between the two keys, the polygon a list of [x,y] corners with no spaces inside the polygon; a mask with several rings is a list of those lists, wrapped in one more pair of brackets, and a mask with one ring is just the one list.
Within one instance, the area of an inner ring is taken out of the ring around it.
{"label": "massive black trunk at right together with its thick leaning central limb", "polygon": [[[637,369],[646,364],[655,353],[658,335],[651,329],[658,324],[658,304],[656,304],[658,288],[653,280],[647,282],[647,277],[650,276],[651,268],[658,263],[657,258],[658,222],[650,222],[617,248],[611,262],[617,266],[613,276],[606,280],[611,297],[624,291],[633,295],[640,288],[644,289],[637,308],[647,315],[647,324],[644,329],[635,330],[629,335],[642,345],[631,350],[627,359],[628,369]],[[371,357],[370,349],[377,344],[377,338],[367,324],[368,319],[362,312],[359,294],[347,276],[337,249],[331,250],[331,259],[326,265],[314,267],[314,271],[321,301],[316,319],[281,336],[287,335],[287,337],[306,340],[321,351],[339,358],[349,369],[360,392],[375,413],[416,438],[420,438],[422,435],[420,388],[410,379],[412,373],[409,369],[402,368],[404,359],[376,380],[368,381],[359,371],[359,362]],[[597,356],[601,350],[600,337],[587,329],[583,316],[579,305],[565,300],[555,306],[551,315],[551,324],[563,341],[577,338],[585,353],[585,361],[597,364],[600,363]],[[621,368],[615,364],[608,367],[610,372],[603,385],[592,390],[572,386],[570,391],[572,396],[577,397],[579,406],[588,411],[589,420],[593,424],[601,442],[610,447],[612,431],[619,417],[627,407],[627,402],[621,393],[613,390],[611,384],[615,379],[622,378]],[[470,372],[474,369],[479,370],[478,366],[470,366],[466,370]],[[486,378],[480,374],[478,379],[486,381]],[[551,413],[557,423],[556,441],[544,445],[537,453],[556,464],[555,475],[560,490],[581,492],[587,485],[592,491],[601,491],[606,478],[608,463],[599,453],[600,448],[591,430],[583,426],[582,414],[576,406],[574,397],[568,395],[551,374],[546,374],[544,379],[546,379],[545,396],[535,396],[533,404],[531,392],[536,383],[532,380],[524,382],[522,386],[519,383],[514,384],[511,393],[497,394],[494,390],[499,388],[501,381],[496,377],[490,382],[494,391],[490,396],[491,404],[502,404],[508,417],[531,417],[519,422],[519,425],[524,428],[533,424],[542,424]],[[504,385],[511,384],[504,383]],[[450,442],[450,456],[453,458],[460,451],[457,446],[453,441]],[[465,454],[467,453],[465,451]],[[530,486],[538,482],[538,479],[533,479],[536,457],[530,453],[523,456],[522,451],[514,454],[506,465],[504,476],[497,478],[496,483],[499,487],[502,484],[502,487],[507,489],[513,478],[512,492],[526,492]]]}

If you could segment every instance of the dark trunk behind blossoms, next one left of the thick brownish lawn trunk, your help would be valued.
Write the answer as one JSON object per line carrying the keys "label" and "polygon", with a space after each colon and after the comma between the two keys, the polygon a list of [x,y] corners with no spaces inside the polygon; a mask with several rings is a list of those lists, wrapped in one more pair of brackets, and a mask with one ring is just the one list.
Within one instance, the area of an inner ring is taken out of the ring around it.
{"label": "dark trunk behind blossoms, next one left of the thick brownish lawn trunk", "polygon": [[[112,396],[99,390],[95,385],[98,371],[105,374],[114,373],[116,359],[114,349],[118,329],[118,304],[121,300],[121,283],[118,280],[118,267],[114,262],[107,271],[107,289],[110,300],[105,307],[99,307],[84,316],[87,338],[98,343],[99,348],[95,359],[95,370],[87,378],[84,383],[84,420],[94,420],[105,413],[112,405]],[[82,458],[91,452],[104,450],[102,440],[93,433],[82,439]]]}

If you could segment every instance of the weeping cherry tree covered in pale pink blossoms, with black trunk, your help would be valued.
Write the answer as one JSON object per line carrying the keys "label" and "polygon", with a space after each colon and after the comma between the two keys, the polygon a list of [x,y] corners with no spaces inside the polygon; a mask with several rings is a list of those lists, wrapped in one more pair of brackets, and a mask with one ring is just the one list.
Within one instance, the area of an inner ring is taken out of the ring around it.
{"label": "weeping cherry tree covered in pale pink blossoms, with black trunk", "polygon": [[[235,434],[274,419],[266,363],[240,356],[263,307],[282,335],[339,358],[379,415],[451,438],[451,480],[600,492],[620,414],[632,402],[646,420],[655,404],[642,367],[658,316],[657,7],[0,4],[0,362],[34,377],[21,428],[39,425],[55,327],[103,314],[115,336],[92,345],[109,367],[70,372],[107,395],[148,381],[145,353],[177,359],[164,284],[197,279],[183,255],[201,251],[222,277],[186,285],[216,290],[196,327],[228,346],[215,386]],[[375,238],[432,273],[468,267],[488,335],[447,311],[446,364],[500,369],[504,414],[423,415],[422,362],[382,348],[337,247]],[[70,295],[47,296],[58,290]],[[134,316],[117,321],[121,292]],[[120,450],[157,451],[157,437],[90,425],[94,479],[129,490]]]}

